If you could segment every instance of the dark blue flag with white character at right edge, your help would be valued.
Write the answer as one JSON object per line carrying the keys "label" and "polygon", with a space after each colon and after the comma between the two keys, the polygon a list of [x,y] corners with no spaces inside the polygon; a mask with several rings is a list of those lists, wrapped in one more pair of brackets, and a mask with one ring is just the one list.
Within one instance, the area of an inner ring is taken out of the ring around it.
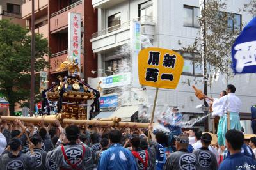
{"label": "dark blue flag with white character at right edge", "polygon": [[253,18],[232,46],[234,73],[256,73],[256,17]]}

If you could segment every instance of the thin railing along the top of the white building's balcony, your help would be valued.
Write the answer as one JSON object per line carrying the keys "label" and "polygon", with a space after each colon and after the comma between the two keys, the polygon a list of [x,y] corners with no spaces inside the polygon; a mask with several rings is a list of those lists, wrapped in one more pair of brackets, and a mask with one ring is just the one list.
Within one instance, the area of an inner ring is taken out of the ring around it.
{"label": "thin railing along the top of the white building's balcony", "polygon": [[97,33],[93,33],[92,38],[97,38],[99,36],[106,35],[108,33],[112,33],[113,31],[116,31],[118,29],[122,29],[124,27],[129,27],[130,22],[134,21],[134,20],[135,21],[141,21],[142,23],[143,22],[154,22],[154,17],[145,15],[145,16],[141,16],[141,17],[138,17],[136,19],[132,19],[132,20],[129,20],[127,22],[121,23],[121,24],[117,24],[117,25],[112,26],[112,27],[108,27],[106,29],[103,29],[102,31],[99,31]]}

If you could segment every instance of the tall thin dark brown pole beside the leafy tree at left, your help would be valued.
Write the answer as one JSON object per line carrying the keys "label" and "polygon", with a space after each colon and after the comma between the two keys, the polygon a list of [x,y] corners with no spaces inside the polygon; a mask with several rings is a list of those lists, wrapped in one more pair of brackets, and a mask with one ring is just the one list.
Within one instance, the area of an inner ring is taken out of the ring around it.
{"label": "tall thin dark brown pole beside the leafy tree at left", "polygon": [[32,1],[31,13],[31,81],[30,81],[30,116],[34,112],[34,96],[35,96],[35,1]]}

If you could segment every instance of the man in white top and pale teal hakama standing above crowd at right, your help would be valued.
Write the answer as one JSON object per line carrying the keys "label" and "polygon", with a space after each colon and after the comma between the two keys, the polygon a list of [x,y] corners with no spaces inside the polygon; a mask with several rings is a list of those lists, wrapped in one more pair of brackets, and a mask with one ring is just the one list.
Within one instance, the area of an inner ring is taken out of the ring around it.
{"label": "man in white top and pale teal hakama standing above crowd at right", "polygon": [[[229,129],[241,130],[239,111],[241,109],[241,100],[235,95],[236,87],[232,84],[227,86],[227,96],[223,96],[217,100],[214,100],[213,106],[220,106],[223,116],[223,121],[218,128],[222,129],[222,134],[218,135],[219,145],[225,145],[225,134]],[[228,117],[228,118],[227,118]],[[220,130],[221,130],[220,129]],[[221,141],[221,142],[220,142]]]}

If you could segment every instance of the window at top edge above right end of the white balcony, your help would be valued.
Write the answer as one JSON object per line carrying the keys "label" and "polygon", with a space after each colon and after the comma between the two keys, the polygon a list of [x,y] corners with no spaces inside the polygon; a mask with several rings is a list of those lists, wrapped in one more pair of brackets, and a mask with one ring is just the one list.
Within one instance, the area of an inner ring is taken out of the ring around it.
{"label": "window at top edge above right end of the white balcony", "polygon": [[153,17],[152,0],[139,4],[139,17],[142,17],[142,20],[145,20],[145,17]]}

